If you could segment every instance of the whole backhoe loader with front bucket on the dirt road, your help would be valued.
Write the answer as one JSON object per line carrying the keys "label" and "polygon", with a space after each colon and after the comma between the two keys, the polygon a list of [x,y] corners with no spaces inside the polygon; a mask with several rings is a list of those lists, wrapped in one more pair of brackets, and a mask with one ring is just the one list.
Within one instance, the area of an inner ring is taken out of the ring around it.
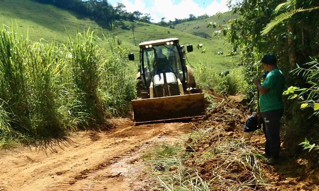
{"label": "whole backhoe loader with front bucket on the dirt road", "polygon": [[[204,94],[196,88],[179,39],[146,41],[139,47],[137,99],[132,100],[134,123],[205,116]],[[187,52],[193,51],[192,45],[186,47]],[[129,60],[134,60],[133,53]]]}

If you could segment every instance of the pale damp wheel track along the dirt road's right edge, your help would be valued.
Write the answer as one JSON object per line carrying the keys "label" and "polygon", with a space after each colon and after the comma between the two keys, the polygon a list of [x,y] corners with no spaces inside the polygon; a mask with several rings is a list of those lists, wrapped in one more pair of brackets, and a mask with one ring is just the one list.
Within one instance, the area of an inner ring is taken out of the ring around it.
{"label": "pale damp wheel track along the dirt road's right edge", "polygon": [[[69,190],[143,190],[148,188],[151,180],[144,169],[140,157],[154,144],[171,143],[178,139],[159,135],[135,146],[113,159],[102,162],[92,169],[85,169],[68,183],[55,187],[54,190],[69,188]],[[70,187],[72,185],[72,187]]]}

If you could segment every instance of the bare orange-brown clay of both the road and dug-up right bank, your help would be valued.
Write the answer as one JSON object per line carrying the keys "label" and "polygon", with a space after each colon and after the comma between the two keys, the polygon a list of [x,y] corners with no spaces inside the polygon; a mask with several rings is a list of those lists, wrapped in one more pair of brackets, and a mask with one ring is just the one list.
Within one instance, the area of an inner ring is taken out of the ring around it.
{"label": "bare orange-brown clay of both the road and dug-up right bank", "polygon": [[[145,171],[140,156],[154,144],[175,142],[178,135],[189,133],[194,126],[201,129],[214,127],[209,136],[192,145],[196,152],[186,162],[209,181],[214,178],[211,172],[222,161],[212,159],[199,164],[197,159],[220,141],[240,139],[250,114],[241,95],[210,93],[216,107],[204,119],[191,123],[134,126],[129,119],[117,118],[112,121],[114,128],[107,131],[76,132],[63,140],[0,151],[0,191],[150,190],[154,182]],[[250,145],[255,152],[262,153],[264,142],[263,133],[258,132],[253,134]],[[278,165],[269,166],[260,161],[262,174],[272,186],[253,188],[319,190],[319,168],[302,156],[294,157],[283,148]],[[234,162],[227,168],[230,175],[226,178],[247,181],[252,178],[250,170]],[[217,190],[214,186],[212,190]]]}

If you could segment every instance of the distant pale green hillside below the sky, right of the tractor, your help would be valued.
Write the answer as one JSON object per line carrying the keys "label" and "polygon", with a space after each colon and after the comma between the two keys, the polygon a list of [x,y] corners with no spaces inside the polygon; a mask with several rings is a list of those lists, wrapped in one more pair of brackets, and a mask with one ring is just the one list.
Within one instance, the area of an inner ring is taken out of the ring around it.
{"label": "distant pale green hillside below the sky, right of the tractor", "polygon": [[215,30],[220,30],[220,29],[218,27],[216,27],[216,29],[207,28],[207,23],[213,22],[213,23],[223,25],[226,23],[227,20],[231,18],[233,18],[233,14],[231,12],[220,13],[220,14],[211,16],[210,18],[195,20],[195,21],[188,21],[181,24],[177,24],[174,26],[174,28],[182,32],[200,36],[206,39],[211,39],[212,33]]}

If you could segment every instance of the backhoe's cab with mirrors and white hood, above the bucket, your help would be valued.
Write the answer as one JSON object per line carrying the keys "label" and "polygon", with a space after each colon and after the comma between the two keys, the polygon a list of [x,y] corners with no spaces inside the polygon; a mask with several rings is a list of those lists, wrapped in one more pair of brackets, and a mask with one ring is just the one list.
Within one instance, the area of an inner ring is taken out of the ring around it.
{"label": "backhoe's cab with mirrors and white hood, above the bucket", "polygon": [[[180,95],[187,88],[188,69],[185,48],[179,45],[179,39],[146,41],[139,46],[140,80],[145,88],[154,89],[149,98]],[[188,45],[188,50],[192,51],[192,45]]]}

